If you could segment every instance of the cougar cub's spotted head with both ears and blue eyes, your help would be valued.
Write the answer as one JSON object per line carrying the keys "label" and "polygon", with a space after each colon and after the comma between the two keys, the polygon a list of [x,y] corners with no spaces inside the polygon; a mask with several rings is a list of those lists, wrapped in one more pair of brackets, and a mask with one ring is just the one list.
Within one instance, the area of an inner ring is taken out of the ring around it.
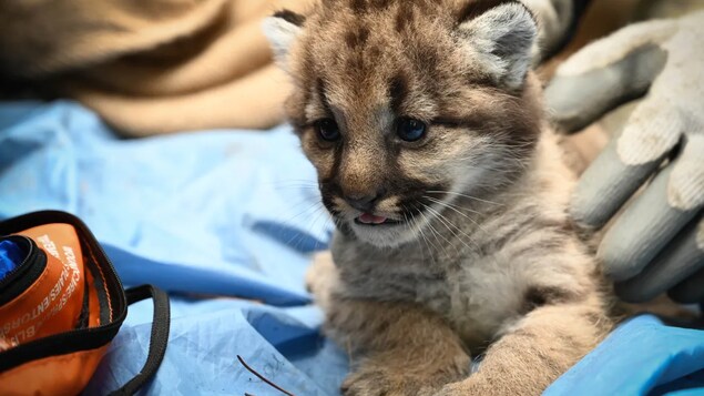
{"label": "cougar cub's spotted head with both ears and blue eyes", "polygon": [[265,21],[289,121],[344,232],[415,241],[452,201],[506,187],[539,135],[518,1],[323,0]]}

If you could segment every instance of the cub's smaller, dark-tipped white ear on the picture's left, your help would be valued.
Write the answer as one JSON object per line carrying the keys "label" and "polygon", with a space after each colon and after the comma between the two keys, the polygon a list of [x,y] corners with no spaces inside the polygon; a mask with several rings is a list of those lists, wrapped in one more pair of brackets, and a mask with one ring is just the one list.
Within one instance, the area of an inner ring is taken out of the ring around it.
{"label": "cub's smaller, dark-tipped white ear on the picture's left", "polygon": [[274,59],[284,69],[288,69],[288,52],[296,37],[303,30],[306,17],[289,11],[282,10],[274,16],[264,19],[262,27],[264,35],[269,40]]}

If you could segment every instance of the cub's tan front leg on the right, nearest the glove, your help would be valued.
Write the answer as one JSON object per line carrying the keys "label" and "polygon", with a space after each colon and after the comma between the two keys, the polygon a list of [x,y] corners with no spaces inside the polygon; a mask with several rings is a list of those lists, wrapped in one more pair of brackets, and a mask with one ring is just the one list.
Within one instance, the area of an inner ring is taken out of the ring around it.
{"label": "cub's tan front leg on the right, nearest the glove", "polygon": [[489,347],[477,373],[439,395],[540,395],[611,329],[593,299],[535,308]]}

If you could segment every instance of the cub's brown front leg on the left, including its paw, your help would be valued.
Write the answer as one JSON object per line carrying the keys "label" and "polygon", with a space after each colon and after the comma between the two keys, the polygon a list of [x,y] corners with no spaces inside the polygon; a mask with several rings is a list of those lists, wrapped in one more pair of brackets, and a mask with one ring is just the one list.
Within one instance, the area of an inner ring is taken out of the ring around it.
{"label": "cub's brown front leg on the left, including its paw", "polygon": [[469,373],[459,337],[419,306],[333,296],[327,316],[328,335],[353,361],[347,396],[431,395]]}

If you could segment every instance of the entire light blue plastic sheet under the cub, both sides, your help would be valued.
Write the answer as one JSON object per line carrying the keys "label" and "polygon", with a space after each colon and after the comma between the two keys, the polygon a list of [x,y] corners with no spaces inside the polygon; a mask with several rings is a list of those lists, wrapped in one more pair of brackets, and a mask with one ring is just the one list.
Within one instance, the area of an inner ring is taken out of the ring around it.
{"label": "entire light blue plastic sheet under the cub, both sides", "polygon": [[[331,233],[318,200],[287,126],[122,140],[72,102],[0,104],[0,219],[74,213],[126,284],[172,292],[169,349],[144,394],[276,395],[237,355],[296,395],[338,394],[347,357],[320,336],[303,283]],[[139,372],[150,321],[149,302],[130,308],[86,394]],[[704,394],[704,332],[635,318],[548,394],[651,390]]]}

